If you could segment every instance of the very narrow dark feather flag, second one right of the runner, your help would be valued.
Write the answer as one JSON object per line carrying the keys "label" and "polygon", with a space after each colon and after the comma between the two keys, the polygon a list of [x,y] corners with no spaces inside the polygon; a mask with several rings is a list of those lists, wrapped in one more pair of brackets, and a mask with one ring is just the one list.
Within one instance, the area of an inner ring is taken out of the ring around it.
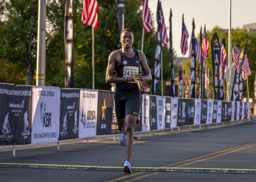
{"label": "very narrow dark feather flag, second one right of the runner", "polygon": [[172,50],[172,9],[170,9],[170,31],[169,31],[169,43],[170,43],[170,63],[171,63],[171,86],[170,86],[170,96],[175,96],[175,84],[174,84],[174,67],[173,67],[173,50]]}

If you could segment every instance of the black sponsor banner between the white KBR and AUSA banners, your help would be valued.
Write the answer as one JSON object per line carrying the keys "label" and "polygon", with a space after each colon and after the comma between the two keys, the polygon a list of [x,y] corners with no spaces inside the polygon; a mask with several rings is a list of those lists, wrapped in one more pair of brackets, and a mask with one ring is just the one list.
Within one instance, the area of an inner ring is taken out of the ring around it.
{"label": "black sponsor banner between the white KBR and AUSA banners", "polygon": [[78,138],[80,89],[60,90],[59,140]]}

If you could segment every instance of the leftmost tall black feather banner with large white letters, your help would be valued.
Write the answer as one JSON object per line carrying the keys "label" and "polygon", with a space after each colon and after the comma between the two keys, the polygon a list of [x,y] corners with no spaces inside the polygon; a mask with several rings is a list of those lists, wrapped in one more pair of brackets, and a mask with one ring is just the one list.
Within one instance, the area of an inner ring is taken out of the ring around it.
{"label": "leftmost tall black feather banner with large white letters", "polygon": [[66,0],[65,6],[65,88],[74,88],[74,76],[73,76],[73,2],[72,0]]}

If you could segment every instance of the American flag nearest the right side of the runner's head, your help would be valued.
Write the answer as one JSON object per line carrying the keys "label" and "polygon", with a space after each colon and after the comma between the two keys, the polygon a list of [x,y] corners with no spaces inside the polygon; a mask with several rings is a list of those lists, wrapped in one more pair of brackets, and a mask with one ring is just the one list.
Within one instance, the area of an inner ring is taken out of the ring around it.
{"label": "American flag nearest the right side of the runner's head", "polygon": [[142,24],[146,33],[152,30],[151,15],[148,8],[148,0],[142,0]]}

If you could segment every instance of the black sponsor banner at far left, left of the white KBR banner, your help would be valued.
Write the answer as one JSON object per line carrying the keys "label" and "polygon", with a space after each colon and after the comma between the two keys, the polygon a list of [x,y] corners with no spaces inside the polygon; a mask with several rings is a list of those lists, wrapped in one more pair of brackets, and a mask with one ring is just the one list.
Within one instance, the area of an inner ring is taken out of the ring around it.
{"label": "black sponsor banner at far left, left of the white KBR banner", "polygon": [[32,87],[0,85],[0,145],[31,143]]}

